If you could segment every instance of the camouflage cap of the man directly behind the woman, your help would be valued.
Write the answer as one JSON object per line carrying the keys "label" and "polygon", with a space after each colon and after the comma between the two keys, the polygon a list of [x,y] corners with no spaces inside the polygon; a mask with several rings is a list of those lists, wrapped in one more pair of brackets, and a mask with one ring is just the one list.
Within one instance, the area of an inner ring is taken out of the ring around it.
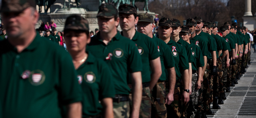
{"label": "camouflage cap of the man directly behind the woman", "polygon": [[104,18],[114,18],[115,16],[118,17],[118,11],[113,4],[101,4],[99,6],[99,11],[97,17],[104,17]]}

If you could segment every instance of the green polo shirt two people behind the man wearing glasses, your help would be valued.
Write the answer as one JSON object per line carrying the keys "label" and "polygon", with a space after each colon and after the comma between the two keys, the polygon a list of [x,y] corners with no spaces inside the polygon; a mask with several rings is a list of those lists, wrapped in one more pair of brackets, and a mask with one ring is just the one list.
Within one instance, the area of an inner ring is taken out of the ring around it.
{"label": "green polo shirt two people behind the man wearing glasses", "polygon": [[211,59],[212,58],[211,52],[217,51],[216,41],[211,37],[210,34],[204,33],[203,31],[201,31],[201,33],[199,33],[198,36],[200,36],[206,42],[208,47],[208,59]]}

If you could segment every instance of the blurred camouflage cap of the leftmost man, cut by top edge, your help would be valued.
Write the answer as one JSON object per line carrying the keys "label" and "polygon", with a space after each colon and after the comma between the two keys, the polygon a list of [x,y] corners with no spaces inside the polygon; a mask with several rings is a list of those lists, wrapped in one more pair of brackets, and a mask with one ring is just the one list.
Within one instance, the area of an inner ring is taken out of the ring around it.
{"label": "blurred camouflage cap of the leftmost man, cut by top edge", "polygon": [[19,12],[28,7],[36,8],[35,0],[2,0],[0,12]]}

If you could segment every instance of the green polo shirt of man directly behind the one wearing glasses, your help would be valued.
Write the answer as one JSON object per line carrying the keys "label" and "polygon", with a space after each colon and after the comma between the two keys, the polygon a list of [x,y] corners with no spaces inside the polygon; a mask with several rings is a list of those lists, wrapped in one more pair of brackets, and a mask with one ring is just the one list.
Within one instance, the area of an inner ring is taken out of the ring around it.
{"label": "green polo shirt of man directly behind the one wearing glasses", "polygon": [[202,39],[196,34],[196,36],[190,39],[189,41],[190,43],[197,45],[201,49],[203,56],[208,56],[208,46],[204,39]]}

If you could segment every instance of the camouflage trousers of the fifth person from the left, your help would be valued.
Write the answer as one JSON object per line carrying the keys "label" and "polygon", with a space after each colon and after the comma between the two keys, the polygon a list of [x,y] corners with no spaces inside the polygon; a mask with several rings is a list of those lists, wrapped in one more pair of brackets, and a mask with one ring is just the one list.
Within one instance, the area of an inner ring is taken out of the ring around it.
{"label": "camouflage trousers of the fifth person from the left", "polygon": [[166,118],[167,111],[164,104],[166,96],[165,82],[157,82],[151,92],[151,116],[156,118]]}

